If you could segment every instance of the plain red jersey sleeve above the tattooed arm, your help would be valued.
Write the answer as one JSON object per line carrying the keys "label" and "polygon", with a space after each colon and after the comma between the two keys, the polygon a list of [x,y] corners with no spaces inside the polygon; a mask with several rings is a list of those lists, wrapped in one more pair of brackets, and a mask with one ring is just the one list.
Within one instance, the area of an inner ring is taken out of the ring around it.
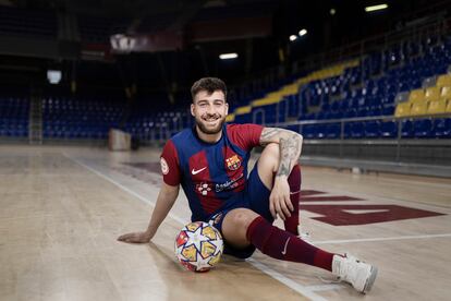
{"label": "plain red jersey sleeve above the tattooed arm", "polygon": [[232,142],[245,150],[251,150],[253,147],[260,145],[263,130],[263,125],[253,123],[230,124],[228,128]]}

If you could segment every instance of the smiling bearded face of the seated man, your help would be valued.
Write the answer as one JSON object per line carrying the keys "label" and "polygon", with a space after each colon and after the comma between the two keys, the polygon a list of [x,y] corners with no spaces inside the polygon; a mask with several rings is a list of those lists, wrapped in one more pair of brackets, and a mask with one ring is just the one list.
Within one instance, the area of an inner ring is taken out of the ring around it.
{"label": "smiling bearded face of the seated man", "polygon": [[196,119],[197,128],[205,134],[217,134],[222,130],[229,111],[229,104],[222,91],[208,94],[200,91],[194,97],[191,113]]}

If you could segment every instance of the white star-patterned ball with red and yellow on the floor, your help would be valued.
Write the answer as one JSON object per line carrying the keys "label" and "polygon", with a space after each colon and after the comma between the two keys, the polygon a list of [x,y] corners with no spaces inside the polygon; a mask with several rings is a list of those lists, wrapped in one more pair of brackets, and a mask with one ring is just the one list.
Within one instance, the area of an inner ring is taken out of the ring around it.
{"label": "white star-patterned ball with red and yellow on the floor", "polygon": [[188,270],[207,272],[221,258],[221,233],[204,221],[190,222],[175,239],[175,255]]}

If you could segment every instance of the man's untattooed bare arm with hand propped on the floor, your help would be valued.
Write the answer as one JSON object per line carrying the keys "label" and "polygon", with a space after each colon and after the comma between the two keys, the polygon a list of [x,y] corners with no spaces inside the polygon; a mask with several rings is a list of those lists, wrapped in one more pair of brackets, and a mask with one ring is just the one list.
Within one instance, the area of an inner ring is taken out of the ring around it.
{"label": "man's untattooed bare arm with hand propped on the floor", "polygon": [[172,186],[162,182],[157,197],[157,204],[155,205],[147,230],[144,232],[126,233],[120,236],[118,240],[133,243],[149,242],[157,232],[158,227],[164,220],[169,210],[172,208],[176,197],[179,196],[179,190],[180,185]]}

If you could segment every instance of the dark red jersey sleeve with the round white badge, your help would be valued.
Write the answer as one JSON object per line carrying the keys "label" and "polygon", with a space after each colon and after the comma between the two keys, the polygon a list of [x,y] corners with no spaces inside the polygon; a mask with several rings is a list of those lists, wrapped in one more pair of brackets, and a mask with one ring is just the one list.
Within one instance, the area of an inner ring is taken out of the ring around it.
{"label": "dark red jersey sleeve with the round white badge", "polygon": [[160,156],[161,173],[163,181],[168,185],[176,186],[181,182],[181,172],[179,165],[179,156],[175,145],[169,140]]}

